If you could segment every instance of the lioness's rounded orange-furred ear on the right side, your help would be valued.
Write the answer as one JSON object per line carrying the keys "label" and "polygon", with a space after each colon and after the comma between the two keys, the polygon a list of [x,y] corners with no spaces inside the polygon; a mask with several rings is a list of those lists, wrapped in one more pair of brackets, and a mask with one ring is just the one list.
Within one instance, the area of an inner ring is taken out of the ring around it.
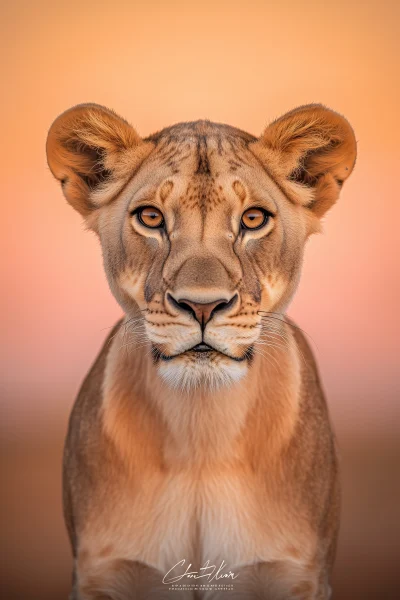
{"label": "lioness's rounded orange-furred ear on the right side", "polygon": [[300,106],[280,117],[251,149],[292,197],[318,217],[339,197],[357,154],[348,121],[320,104]]}

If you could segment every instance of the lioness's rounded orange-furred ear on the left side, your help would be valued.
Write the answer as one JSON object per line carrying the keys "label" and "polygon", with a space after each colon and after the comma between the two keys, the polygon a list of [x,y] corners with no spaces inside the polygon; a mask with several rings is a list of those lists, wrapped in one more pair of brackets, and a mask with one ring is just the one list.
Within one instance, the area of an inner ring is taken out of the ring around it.
{"label": "lioness's rounded orange-furred ear on the left side", "polygon": [[68,202],[86,217],[121,190],[153,147],[108,108],[80,104],[51,126],[47,162]]}

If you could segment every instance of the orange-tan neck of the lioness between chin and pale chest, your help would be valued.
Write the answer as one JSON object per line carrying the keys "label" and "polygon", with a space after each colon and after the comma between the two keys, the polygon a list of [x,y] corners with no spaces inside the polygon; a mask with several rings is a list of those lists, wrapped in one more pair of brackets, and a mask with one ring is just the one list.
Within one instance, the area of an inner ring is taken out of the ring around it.
{"label": "orange-tan neck of the lioness between chin and pale chest", "polygon": [[164,466],[240,461],[257,435],[277,450],[297,418],[300,363],[290,339],[268,357],[256,355],[239,382],[184,392],[165,384],[146,349],[126,352],[120,331],[103,386],[106,433],[128,459],[147,447],[145,460]]}

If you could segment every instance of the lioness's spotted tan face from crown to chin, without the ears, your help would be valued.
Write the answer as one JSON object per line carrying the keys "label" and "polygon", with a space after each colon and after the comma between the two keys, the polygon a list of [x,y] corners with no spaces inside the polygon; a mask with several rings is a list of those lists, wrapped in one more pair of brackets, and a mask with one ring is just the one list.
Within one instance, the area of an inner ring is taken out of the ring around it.
{"label": "lioness's spotted tan face from crown to chin, without the ears", "polygon": [[217,385],[249,367],[261,311],[280,312],[292,296],[306,219],[243,136],[203,123],[172,136],[100,209],[98,230],[128,329],[150,341],[162,376]]}

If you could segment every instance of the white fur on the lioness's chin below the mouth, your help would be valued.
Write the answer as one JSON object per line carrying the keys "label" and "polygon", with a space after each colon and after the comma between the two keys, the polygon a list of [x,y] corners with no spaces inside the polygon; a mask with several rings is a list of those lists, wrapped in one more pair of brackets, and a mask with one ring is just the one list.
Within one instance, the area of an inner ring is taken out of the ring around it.
{"label": "white fur on the lioness's chin below the mouth", "polygon": [[190,391],[194,389],[217,390],[238,382],[247,372],[247,363],[227,359],[218,365],[199,361],[172,359],[158,364],[159,373],[167,385],[174,389]]}

